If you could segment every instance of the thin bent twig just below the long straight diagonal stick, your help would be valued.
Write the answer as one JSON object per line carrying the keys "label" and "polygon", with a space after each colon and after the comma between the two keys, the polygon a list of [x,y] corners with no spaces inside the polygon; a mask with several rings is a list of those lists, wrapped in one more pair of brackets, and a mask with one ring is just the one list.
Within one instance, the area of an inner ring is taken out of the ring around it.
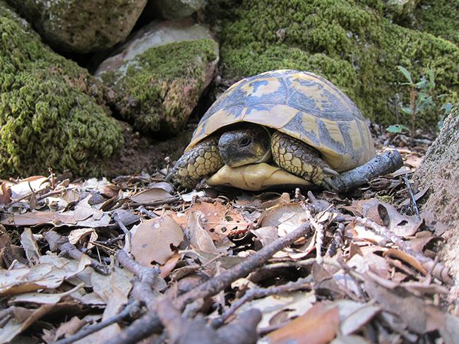
{"label": "thin bent twig just below the long straight diagonal stick", "polygon": [[287,293],[292,290],[298,290],[298,289],[303,289],[303,288],[309,288],[310,283],[312,281],[312,276],[309,275],[308,277],[305,278],[298,278],[297,281],[294,282],[289,282],[285,283],[283,285],[277,285],[275,287],[271,288],[254,288],[251,290],[248,290],[243,297],[241,297],[239,300],[234,302],[229,309],[227,309],[225,312],[223,312],[220,317],[214,319],[212,321],[212,326],[213,327],[220,327],[222,324],[225,323],[225,321],[234,314],[234,312],[239,309],[244,303],[249,302],[251,300],[254,300],[255,298],[258,297],[266,297],[269,295],[276,295],[280,293]]}

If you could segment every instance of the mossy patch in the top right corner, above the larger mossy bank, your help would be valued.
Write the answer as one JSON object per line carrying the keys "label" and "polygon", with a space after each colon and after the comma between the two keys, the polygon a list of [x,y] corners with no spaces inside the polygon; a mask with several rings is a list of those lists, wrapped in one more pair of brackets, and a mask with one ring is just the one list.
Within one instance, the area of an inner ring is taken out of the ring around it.
{"label": "mossy patch in the top right corner, above the larger mossy bank", "polygon": [[459,45],[459,1],[423,0],[416,16],[420,30]]}

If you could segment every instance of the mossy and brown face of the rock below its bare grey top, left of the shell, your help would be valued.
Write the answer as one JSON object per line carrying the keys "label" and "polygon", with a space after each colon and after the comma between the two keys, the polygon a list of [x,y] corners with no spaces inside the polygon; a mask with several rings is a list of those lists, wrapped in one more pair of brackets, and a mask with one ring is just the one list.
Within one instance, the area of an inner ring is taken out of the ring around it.
{"label": "mossy and brown face of the rock below its bare grey top, left of the shell", "polygon": [[126,70],[102,74],[121,98],[119,112],[134,128],[162,135],[177,133],[198,102],[205,66],[217,58],[213,39],[165,44],[128,62]]}

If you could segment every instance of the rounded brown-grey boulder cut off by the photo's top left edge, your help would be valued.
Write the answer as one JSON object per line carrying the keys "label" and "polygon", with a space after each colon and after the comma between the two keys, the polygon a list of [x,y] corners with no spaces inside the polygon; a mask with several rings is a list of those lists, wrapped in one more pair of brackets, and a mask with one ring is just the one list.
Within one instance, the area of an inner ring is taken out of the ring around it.
{"label": "rounded brown-grey boulder cut off by the photo's top left edge", "polygon": [[147,0],[8,0],[52,47],[102,51],[124,41]]}

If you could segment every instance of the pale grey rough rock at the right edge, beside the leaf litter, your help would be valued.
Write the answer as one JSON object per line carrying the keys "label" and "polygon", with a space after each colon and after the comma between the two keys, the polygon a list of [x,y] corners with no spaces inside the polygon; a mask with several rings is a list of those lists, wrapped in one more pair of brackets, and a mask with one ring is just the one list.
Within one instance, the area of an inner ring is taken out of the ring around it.
{"label": "pale grey rough rock at the right edge, beside the leaf litter", "polygon": [[451,268],[455,286],[450,297],[459,301],[459,107],[446,118],[439,137],[429,147],[414,179],[420,190],[429,188],[423,211],[431,211],[446,225],[443,261]]}

